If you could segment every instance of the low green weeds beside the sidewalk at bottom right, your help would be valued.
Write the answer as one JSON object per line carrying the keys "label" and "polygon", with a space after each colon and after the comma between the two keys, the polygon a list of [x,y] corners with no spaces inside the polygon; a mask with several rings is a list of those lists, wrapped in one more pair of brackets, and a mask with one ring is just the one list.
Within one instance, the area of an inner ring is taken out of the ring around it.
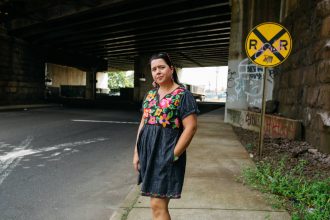
{"label": "low green weeds beside the sidewalk at bottom right", "polygon": [[291,212],[292,219],[330,219],[330,177],[308,180],[303,174],[306,161],[288,170],[286,160],[277,165],[261,161],[255,168],[246,168],[243,181],[273,194]]}

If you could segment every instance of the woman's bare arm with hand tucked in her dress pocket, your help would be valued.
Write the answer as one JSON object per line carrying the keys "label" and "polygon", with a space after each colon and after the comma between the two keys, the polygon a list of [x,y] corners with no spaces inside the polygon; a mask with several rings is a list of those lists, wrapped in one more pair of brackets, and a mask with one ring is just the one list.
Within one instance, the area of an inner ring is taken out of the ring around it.
{"label": "woman's bare arm with hand tucked in her dress pocket", "polygon": [[197,115],[191,114],[182,120],[183,132],[174,148],[174,156],[180,156],[189,146],[197,131]]}

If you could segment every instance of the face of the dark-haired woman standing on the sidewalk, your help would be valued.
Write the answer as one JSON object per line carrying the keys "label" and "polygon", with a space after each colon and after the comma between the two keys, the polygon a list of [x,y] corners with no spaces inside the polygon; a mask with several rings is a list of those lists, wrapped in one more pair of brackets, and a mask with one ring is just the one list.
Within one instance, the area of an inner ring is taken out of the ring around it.
{"label": "face of the dark-haired woman standing on the sidewalk", "polygon": [[172,81],[173,67],[166,64],[163,59],[151,61],[151,73],[154,81],[159,85],[164,85]]}

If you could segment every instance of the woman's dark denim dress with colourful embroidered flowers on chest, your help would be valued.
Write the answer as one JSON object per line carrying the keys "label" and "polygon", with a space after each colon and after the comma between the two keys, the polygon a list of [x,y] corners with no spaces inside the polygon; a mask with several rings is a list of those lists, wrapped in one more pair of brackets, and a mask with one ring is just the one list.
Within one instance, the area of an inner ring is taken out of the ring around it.
{"label": "woman's dark denim dress with colourful embroidered flowers on chest", "polygon": [[186,152],[175,162],[173,152],[183,131],[182,120],[193,113],[198,113],[196,101],[184,87],[176,88],[161,100],[157,89],[147,93],[143,101],[144,126],[137,142],[142,195],[181,197]]}

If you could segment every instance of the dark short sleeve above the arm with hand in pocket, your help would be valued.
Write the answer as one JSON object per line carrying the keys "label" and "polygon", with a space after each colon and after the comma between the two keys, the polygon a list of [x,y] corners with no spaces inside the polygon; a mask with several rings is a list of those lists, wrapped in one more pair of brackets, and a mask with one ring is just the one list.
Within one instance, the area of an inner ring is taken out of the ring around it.
{"label": "dark short sleeve above the arm with hand in pocket", "polygon": [[188,90],[185,91],[181,98],[179,114],[180,119],[183,120],[185,117],[191,114],[198,114],[198,106],[194,96]]}

